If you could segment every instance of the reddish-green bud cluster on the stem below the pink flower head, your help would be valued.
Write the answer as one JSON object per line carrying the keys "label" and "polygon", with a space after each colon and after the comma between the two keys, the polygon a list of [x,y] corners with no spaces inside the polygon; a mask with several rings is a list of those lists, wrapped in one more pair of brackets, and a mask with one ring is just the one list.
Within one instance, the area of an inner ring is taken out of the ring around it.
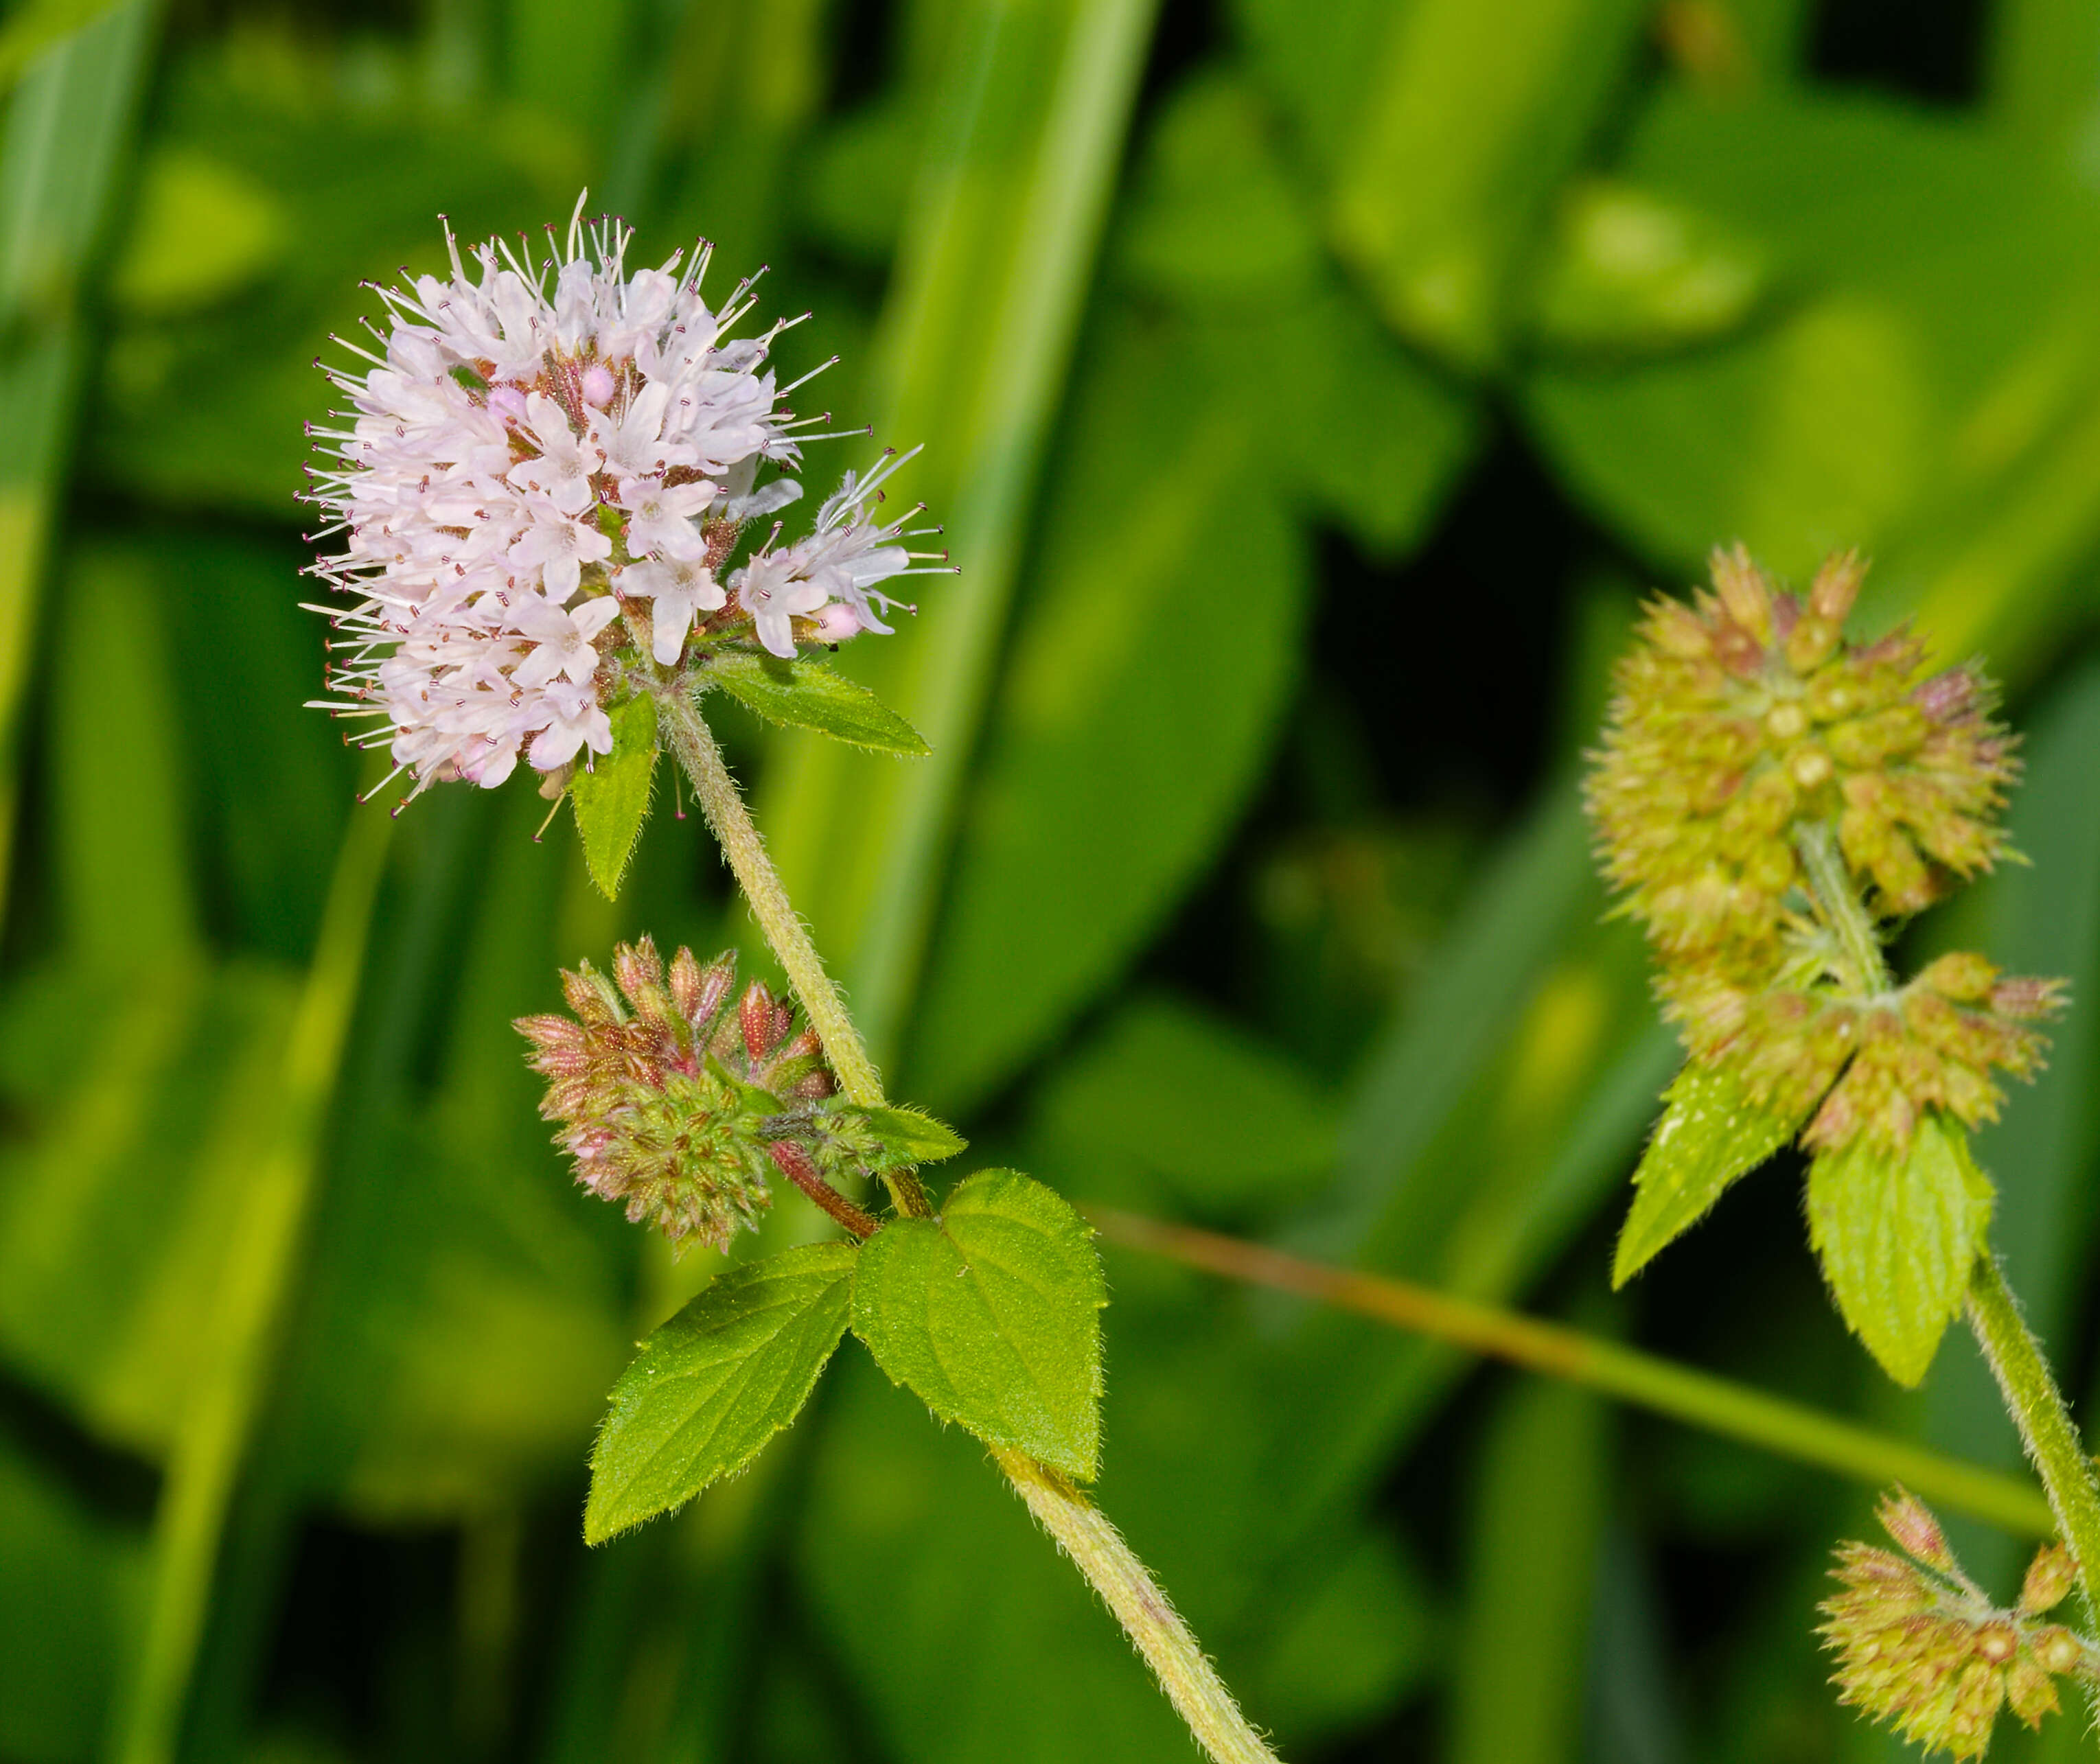
{"label": "reddish-green bud cluster on the stem below the pink flower head", "polygon": [[521,1016],[529,1063],[548,1079],[544,1119],[575,1180],[628,1218],[727,1250],[771,1205],[775,1144],[827,1149],[823,1102],[838,1088],[815,1029],[752,981],[733,1000],[737,958],[701,966],[680,949],[624,943],[607,979],[565,972],[575,1016]]}

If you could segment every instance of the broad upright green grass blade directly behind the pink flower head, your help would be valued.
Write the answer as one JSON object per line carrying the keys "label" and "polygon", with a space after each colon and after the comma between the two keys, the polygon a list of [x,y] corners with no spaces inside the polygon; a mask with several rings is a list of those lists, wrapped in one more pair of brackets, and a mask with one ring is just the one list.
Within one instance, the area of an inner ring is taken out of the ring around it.
{"label": "broad upright green grass blade directly behind the pink flower head", "polygon": [[895,1052],[918,987],[1153,8],[987,0],[958,21],[934,99],[920,225],[884,319],[882,439],[930,443],[911,491],[947,523],[964,573],[930,578],[907,638],[850,655],[932,756],[892,771],[790,746],[758,817],[878,1060]]}

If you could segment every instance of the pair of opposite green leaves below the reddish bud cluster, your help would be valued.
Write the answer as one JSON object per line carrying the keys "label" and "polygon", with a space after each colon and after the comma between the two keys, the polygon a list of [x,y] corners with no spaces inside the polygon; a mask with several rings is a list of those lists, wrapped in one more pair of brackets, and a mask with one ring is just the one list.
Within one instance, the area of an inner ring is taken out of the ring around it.
{"label": "pair of opposite green leaves below the reddish bud cluster", "polygon": [[1092,1231],[1042,1182],[985,1170],[937,1218],[724,1273],[613,1386],[584,1537],[601,1544],[743,1470],[850,1327],[943,1422],[1092,1480],[1100,1308]]}

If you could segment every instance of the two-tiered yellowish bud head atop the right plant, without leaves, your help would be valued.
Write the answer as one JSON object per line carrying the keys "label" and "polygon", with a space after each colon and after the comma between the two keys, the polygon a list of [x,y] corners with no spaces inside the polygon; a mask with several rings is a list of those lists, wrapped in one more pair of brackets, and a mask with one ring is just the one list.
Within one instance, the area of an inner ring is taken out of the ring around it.
{"label": "two-tiered yellowish bud head atop the right plant, without leaves", "polygon": [[1968,953],[1890,987],[1858,972],[1816,892],[1816,848],[1869,922],[1989,869],[2018,773],[1972,668],[1926,676],[1905,632],[1844,640],[1863,573],[1833,556],[1796,598],[1739,546],[1714,554],[1712,592],[1657,601],[1619,666],[1588,806],[1690,1054],[1730,1065],[1812,1149],[1867,1136],[1894,1153],[1926,1109],[1997,1119],[1993,1073],[2037,1071],[2029,1025],[2062,998]]}

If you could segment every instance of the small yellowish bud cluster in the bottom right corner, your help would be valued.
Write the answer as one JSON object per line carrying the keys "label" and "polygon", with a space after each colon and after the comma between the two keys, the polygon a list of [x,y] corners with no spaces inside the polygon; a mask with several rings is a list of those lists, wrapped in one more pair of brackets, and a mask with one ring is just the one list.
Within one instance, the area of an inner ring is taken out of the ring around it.
{"label": "small yellowish bud cluster in the bottom right corner", "polygon": [[2058,1676],[2094,1678],[2094,1644],[2043,1621],[2077,1579],[2062,1544],[2035,1554],[2020,1602],[2006,1611],[1961,1573],[1913,1495],[1892,1493],[1880,1518],[1905,1554],[1844,1544],[1831,1571],[1840,1590],[1823,1604],[1819,1634],[1838,1655],[1842,1703],[1928,1751],[1980,1758],[1999,1709],[2041,1726],[2060,1707]]}

